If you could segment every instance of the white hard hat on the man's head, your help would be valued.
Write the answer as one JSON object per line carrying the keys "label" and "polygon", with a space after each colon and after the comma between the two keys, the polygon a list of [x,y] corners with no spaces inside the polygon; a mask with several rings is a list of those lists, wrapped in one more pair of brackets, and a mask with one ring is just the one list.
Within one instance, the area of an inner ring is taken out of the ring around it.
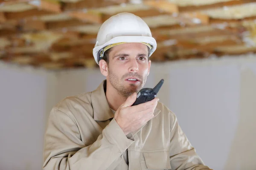
{"label": "white hard hat on the man's head", "polygon": [[140,42],[150,48],[150,55],[156,50],[157,42],[148,25],[140,17],[122,12],[110,17],[99,28],[93,57],[97,64],[109,48],[122,43]]}

